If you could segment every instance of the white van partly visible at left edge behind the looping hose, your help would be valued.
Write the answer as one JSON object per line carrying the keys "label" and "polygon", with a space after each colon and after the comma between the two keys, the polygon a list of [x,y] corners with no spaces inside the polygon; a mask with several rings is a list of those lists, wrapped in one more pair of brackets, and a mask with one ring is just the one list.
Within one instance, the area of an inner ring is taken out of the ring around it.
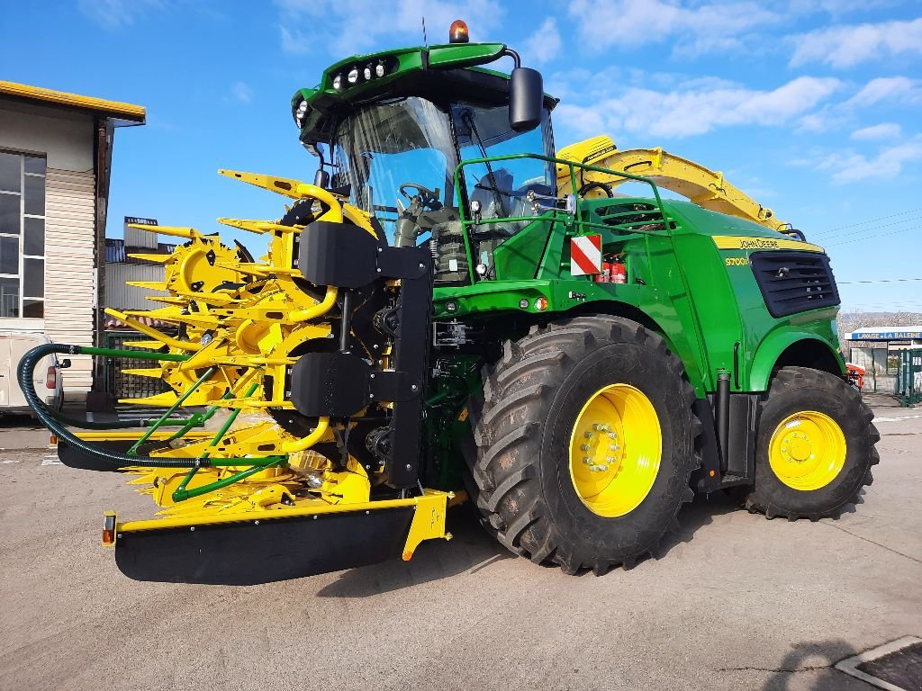
{"label": "white van partly visible at left edge behind the looping hose", "polygon": [[[19,389],[16,371],[19,360],[36,345],[51,343],[45,334],[24,331],[0,331],[0,416],[7,413],[30,413],[26,397]],[[58,361],[54,355],[45,356],[35,368],[32,384],[39,398],[53,410],[64,405],[64,388],[61,369],[70,367],[70,360]]]}

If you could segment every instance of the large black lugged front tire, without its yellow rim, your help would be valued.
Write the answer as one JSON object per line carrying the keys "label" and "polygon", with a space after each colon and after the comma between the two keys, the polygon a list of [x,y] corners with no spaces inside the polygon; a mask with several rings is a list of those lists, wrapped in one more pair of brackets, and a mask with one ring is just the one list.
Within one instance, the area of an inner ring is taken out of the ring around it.
{"label": "large black lugged front tire, without its yellow rim", "polygon": [[[570,470],[573,426],[602,387],[642,392],[656,410],[661,460],[649,492],[624,515],[590,510]],[[701,424],[678,357],[636,322],[596,315],[534,327],[508,342],[471,407],[477,453],[471,495],[483,522],[515,554],[566,573],[632,566],[651,553],[690,501]]]}

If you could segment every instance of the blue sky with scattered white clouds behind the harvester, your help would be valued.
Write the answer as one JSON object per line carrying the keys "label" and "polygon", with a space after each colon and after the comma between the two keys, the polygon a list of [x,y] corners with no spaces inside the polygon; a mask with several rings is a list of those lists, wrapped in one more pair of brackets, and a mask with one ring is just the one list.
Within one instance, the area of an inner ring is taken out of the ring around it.
{"label": "blue sky with scattered white clouds behind the harvester", "polygon": [[[0,0],[0,78],[148,108],[116,134],[124,216],[278,217],[219,168],[310,180],[290,97],[351,53],[504,41],[561,98],[558,146],[663,146],[827,247],[846,309],[922,311],[922,5],[895,0]],[[233,237],[229,228],[222,233]],[[242,238],[258,246],[253,236]]]}

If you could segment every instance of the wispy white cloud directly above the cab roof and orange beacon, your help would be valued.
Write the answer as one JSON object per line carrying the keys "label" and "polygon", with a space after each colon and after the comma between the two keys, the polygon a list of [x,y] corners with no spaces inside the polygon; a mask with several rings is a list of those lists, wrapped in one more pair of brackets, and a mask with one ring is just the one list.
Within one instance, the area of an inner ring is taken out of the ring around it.
{"label": "wispy white cloud directly above the cab roof and orange beacon", "polygon": [[365,0],[276,0],[276,5],[283,51],[320,46],[339,57],[367,52],[389,37],[421,45],[423,17],[430,44],[447,42],[448,27],[458,18],[467,20],[471,41],[484,41],[503,17],[500,0],[378,0],[372,7]]}

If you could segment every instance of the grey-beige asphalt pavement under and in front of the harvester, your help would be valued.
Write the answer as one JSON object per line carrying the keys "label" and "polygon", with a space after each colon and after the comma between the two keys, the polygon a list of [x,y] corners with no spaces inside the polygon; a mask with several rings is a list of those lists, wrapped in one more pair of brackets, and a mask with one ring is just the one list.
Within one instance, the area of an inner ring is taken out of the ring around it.
{"label": "grey-beige asphalt pavement under and in front of the harvester", "polygon": [[5,423],[0,689],[870,689],[833,664],[922,637],[922,410],[872,403],[881,464],[837,521],[698,498],[659,558],[597,578],[457,509],[409,563],[245,587],[126,579],[101,513],[149,499]]}

